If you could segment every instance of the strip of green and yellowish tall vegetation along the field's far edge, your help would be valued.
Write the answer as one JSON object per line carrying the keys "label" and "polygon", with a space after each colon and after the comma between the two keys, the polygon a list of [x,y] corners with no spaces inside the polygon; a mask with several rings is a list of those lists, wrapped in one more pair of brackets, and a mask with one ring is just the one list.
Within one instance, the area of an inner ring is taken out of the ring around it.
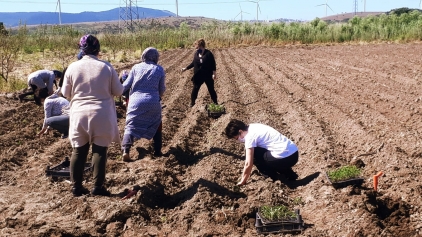
{"label": "strip of green and yellowish tall vegetation along the field's far edge", "polygon": [[[77,53],[83,32],[72,26],[41,25],[28,31],[26,26],[0,34],[0,77],[8,80],[19,54],[46,51],[65,67]],[[153,45],[158,49],[190,47],[198,38],[205,38],[212,48],[234,45],[277,45],[341,43],[347,41],[412,41],[422,39],[422,14],[400,11],[364,18],[354,17],[345,23],[327,23],[318,18],[306,23],[211,22],[198,29],[182,23],[177,28],[140,28],[134,33],[103,31],[97,34],[102,49],[113,58],[118,52],[130,54]]]}

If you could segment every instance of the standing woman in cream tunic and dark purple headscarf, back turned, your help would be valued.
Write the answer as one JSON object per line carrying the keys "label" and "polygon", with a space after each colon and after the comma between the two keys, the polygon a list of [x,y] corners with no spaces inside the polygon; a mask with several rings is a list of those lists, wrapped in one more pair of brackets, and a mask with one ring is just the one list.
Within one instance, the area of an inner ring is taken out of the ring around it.
{"label": "standing woman in cream tunic and dark purple headscarf, back turned", "polygon": [[70,174],[73,195],[87,194],[82,186],[83,172],[92,145],[94,167],[93,195],[110,196],[103,186],[106,173],[107,147],[120,143],[114,96],[120,96],[123,86],[110,63],[98,59],[100,42],[85,35],[79,42],[83,57],[69,65],[63,80],[62,94],[70,99],[69,140],[73,151]]}

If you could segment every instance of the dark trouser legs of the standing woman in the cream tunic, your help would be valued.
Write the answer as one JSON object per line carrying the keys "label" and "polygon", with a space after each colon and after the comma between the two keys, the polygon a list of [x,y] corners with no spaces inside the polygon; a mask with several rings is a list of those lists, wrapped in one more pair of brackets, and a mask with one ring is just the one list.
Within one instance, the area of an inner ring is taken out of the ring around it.
{"label": "dark trouser legs of the standing woman in the cream tunic", "polygon": [[[87,161],[89,152],[89,143],[75,147],[70,158],[70,177],[73,181],[74,187],[82,187],[83,174],[85,170],[85,163]],[[94,185],[101,187],[105,181],[107,163],[107,147],[92,144],[92,166]]]}

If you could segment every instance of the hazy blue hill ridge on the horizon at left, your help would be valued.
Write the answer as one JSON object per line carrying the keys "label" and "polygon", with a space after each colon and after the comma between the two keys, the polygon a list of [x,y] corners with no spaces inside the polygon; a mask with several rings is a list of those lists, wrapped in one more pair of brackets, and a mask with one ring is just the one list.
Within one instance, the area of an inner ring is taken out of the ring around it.
{"label": "hazy blue hill ridge on the horizon at left", "polygon": [[[139,18],[155,18],[176,16],[169,11],[155,10],[150,8],[138,7]],[[61,13],[63,24],[73,24],[81,22],[100,22],[119,20],[119,8],[114,8],[102,12],[81,12],[81,13]],[[58,12],[0,12],[0,22],[3,22],[6,28],[18,26],[19,23],[26,25],[40,24],[59,24]]]}

